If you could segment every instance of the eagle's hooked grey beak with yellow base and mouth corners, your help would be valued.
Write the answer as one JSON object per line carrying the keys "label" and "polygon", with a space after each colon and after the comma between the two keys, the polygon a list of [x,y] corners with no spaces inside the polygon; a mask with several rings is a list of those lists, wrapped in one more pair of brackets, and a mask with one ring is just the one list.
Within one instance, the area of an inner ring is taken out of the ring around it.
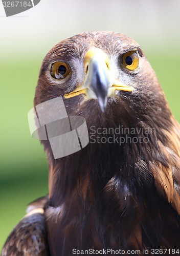
{"label": "eagle's hooked grey beak with yellow base and mouth corners", "polygon": [[98,99],[102,112],[105,112],[107,98],[116,96],[115,91],[132,92],[131,87],[113,79],[109,69],[109,58],[105,52],[99,48],[91,48],[84,57],[85,78],[81,86],[73,92],[65,94],[65,98],[71,98],[79,94],[86,94],[89,99]]}

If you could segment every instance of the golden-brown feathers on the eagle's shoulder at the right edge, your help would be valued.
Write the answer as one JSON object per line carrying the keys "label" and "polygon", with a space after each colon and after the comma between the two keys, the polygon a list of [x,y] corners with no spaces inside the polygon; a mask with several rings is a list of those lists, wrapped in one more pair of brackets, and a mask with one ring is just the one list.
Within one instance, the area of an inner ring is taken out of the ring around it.
{"label": "golden-brown feathers on the eagle's shoulder at the right edge", "polygon": [[[167,142],[159,141],[160,155],[151,165],[155,186],[180,215],[180,126],[173,118],[170,131],[164,130]],[[163,157],[162,157],[163,156]],[[159,160],[164,159],[163,161]]]}

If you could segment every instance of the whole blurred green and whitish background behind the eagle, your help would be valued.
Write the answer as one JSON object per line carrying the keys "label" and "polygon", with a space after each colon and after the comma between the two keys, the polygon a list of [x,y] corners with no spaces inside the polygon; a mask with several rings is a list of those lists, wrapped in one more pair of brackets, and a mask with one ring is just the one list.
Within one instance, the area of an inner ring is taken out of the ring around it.
{"label": "whole blurred green and whitish background behind the eagle", "polygon": [[48,193],[46,155],[30,136],[27,113],[33,107],[42,59],[58,41],[88,30],[114,30],[136,39],[180,121],[178,1],[145,1],[147,6],[140,0],[136,6],[132,1],[93,1],[88,6],[71,0],[63,13],[62,3],[41,2],[19,16],[6,18],[4,10],[0,12],[0,250],[27,204]]}

